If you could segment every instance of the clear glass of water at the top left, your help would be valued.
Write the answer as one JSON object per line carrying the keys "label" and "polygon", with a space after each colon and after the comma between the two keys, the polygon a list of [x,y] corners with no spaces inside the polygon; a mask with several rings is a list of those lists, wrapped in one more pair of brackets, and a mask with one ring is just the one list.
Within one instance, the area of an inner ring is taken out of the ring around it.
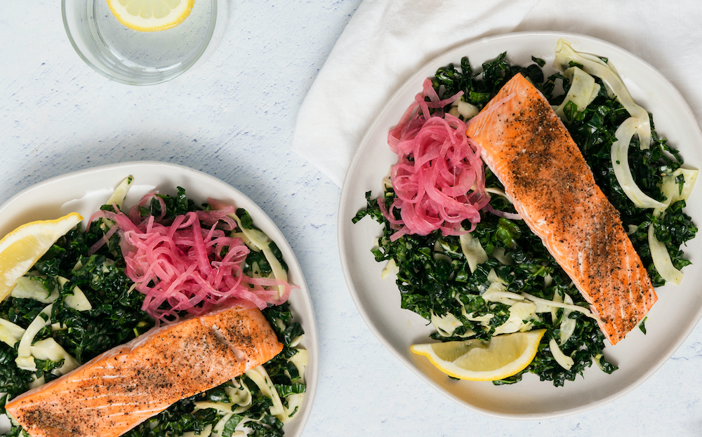
{"label": "clear glass of water at the top left", "polygon": [[223,36],[228,11],[227,0],[195,0],[180,25],[156,32],[122,25],[106,0],[62,0],[62,13],[68,39],[95,71],[129,85],[152,85],[204,62]]}

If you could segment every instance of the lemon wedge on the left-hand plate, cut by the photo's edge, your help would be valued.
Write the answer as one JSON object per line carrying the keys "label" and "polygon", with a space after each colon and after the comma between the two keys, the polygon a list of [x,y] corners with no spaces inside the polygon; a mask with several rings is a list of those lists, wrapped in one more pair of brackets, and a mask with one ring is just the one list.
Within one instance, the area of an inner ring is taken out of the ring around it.
{"label": "lemon wedge on the left-hand plate, cut by the photo's edge", "polygon": [[4,236],[0,240],[0,301],[53,243],[81,220],[80,214],[70,213],[56,220],[22,224]]}

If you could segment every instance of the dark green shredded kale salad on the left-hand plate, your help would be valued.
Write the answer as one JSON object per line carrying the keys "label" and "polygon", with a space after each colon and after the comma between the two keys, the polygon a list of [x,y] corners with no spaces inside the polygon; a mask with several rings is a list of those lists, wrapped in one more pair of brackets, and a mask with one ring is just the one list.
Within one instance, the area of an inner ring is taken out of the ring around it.
{"label": "dark green shredded kale salad on the left-hand plate", "polygon": [[[157,194],[166,206],[165,217],[174,217],[194,210],[207,209],[197,206],[187,199],[185,190],[178,188],[176,196]],[[114,210],[103,206],[103,210]],[[152,199],[150,206],[141,208],[142,217],[161,215],[161,204]],[[256,229],[251,216],[244,209],[237,210],[241,217],[241,227]],[[241,231],[243,229],[235,229]],[[59,239],[41,257],[25,276],[25,281],[39,293],[32,298],[8,297],[0,303],[0,318],[22,329],[27,329],[35,318],[53,302],[51,324],[44,326],[34,337],[33,348],[42,340],[53,339],[69,357],[58,361],[34,358],[37,370],[22,370],[15,365],[18,357],[18,344],[10,346],[0,342],[0,414],[4,405],[15,396],[28,389],[49,382],[60,376],[59,372],[66,361],[76,364],[86,363],[102,352],[124,344],[147,332],[154,326],[154,320],[141,311],[144,295],[133,290],[133,283],[124,273],[125,260],[119,249],[119,236],[114,234],[110,241],[95,253],[88,250],[105,234],[106,229],[91,226],[83,231],[79,224]],[[287,271],[282,253],[270,244],[274,256]],[[244,273],[267,276],[271,266],[265,256],[251,250],[242,264]],[[37,288],[38,286],[38,288]],[[25,287],[26,288],[26,287]],[[31,288],[31,287],[30,287]],[[67,297],[76,295],[77,288],[89,302],[91,309],[68,304]],[[53,293],[53,295],[52,295]],[[58,295],[57,295],[58,293]],[[129,437],[178,437],[217,435],[230,437],[239,426],[248,429],[249,435],[258,437],[281,437],[283,423],[277,411],[285,419],[293,417],[305,394],[304,368],[307,364],[307,351],[297,345],[303,335],[300,323],[293,321],[289,304],[268,307],[263,314],[269,321],[282,344],[283,350],[263,366],[226,382],[216,388],[197,394],[171,405],[159,415],[128,431]],[[185,313],[182,314],[185,316]],[[0,328],[1,325],[0,325]],[[3,339],[0,336],[0,339]],[[275,410],[275,409],[278,410]],[[284,413],[283,413],[284,412]],[[5,436],[27,436],[26,431],[13,423]],[[234,434],[237,435],[237,434]]]}

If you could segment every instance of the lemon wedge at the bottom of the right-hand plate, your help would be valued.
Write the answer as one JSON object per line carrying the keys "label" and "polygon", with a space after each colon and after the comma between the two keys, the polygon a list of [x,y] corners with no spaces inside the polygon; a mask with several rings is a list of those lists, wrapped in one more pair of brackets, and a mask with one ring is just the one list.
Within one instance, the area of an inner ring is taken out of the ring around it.
{"label": "lemon wedge at the bottom of the right-hand plate", "polygon": [[439,370],[454,378],[497,381],[521,372],[538,351],[545,329],[492,337],[490,342],[413,344],[409,350],[429,358]]}

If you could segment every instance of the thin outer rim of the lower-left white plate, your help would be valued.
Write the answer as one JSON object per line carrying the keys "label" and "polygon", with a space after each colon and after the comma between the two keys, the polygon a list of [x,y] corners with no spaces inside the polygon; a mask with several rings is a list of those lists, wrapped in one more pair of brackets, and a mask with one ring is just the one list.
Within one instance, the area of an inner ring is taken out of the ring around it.
{"label": "thin outer rim of the lower-left white plate", "polygon": [[[7,201],[2,203],[0,205],[0,222],[3,220],[3,215],[6,213],[6,210],[9,210],[16,202],[20,201],[22,197],[26,196],[29,193],[32,193],[33,191],[36,191],[38,189],[41,189],[43,187],[46,187],[51,184],[55,184],[57,182],[61,182],[62,180],[69,180],[72,178],[77,178],[77,177],[86,177],[92,173],[100,173],[106,170],[120,170],[124,169],[125,171],[125,177],[128,175],[129,172],[133,171],[131,169],[133,168],[140,168],[140,169],[148,169],[148,168],[153,168],[153,167],[159,167],[159,168],[166,168],[168,170],[172,170],[173,172],[178,172],[178,173],[183,173],[183,174],[188,174],[193,177],[197,177],[199,180],[206,180],[211,183],[215,184],[223,184],[227,189],[230,189],[231,194],[235,194],[233,196],[235,199],[241,199],[243,201],[249,202],[251,206],[253,206],[253,211],[251,210],[252,208],[247,207],[247,211],[249,211],[249,214],[253,217],[254,222],[260,222],[264,221],[266,222],[267,227],[270,227],[274,233],[276,234],[276,239],[273,240],[276,245],[279,248],[282,248],[282,251],[288,252],[288,256],[285,258],[286,264],[288,264],[289,269],[290,267],[293,267],[298,273],[298,280],[296,281],[296,284],[303,293],[301,293],[302,301],[304,303],[304,309],[309,314],[309,320],[305,319],[305,324],[308,325],[308,329],[305,330],[305,337],[308,340],[308,345],[306,344],[305,347],[308,351],[308,354],[310,356],[314,357],[314,361],[312,361],[312,365],[308,365],[307,368],[305,368],[305,384],[307,386],[307,389],[305,390],[305,403],[307,404],[307,408],[303,410],[302,414],[299,415],[298,417],[295,417],[291,420],[291,424],[296,424],[296,432],[294,434],[291,434],[290,437],[299,437],[302,435],[303,431],[305,430],[305,426],[307,426],[307,421],[312,413],[312,408],[314,407],[314,398],[317,395],[317,389],[318,389],[318,384],[319,384],[319,331],[317,328],[317,317],[314,314],[314,305],[312,304],[312,295],[310,294],[310,288],[307,286],[307,281],[305,280],[305,276],[303,274],[303,269],[300,267],[300,263],[298,262],[298,259],[293,252],[293,249],[290,246],[290,243],[287,241],[287,238],[285,238],[284,234],[282,231],[280,231],[279,227],[277,224],[270,218],[267,213],[258,206],[258,203],[254,202],[249,198],[249,196],[246,196],[246,194],[242,193],[237,189],[236,187],[233,187],[231,184],[220,180],[218,177],[215,177],[213,175],[209,175],[208,173],[204,173],[200,170],[196,170],[191,167],[183,166],[180,164],[176,163],[168,163],[168,162],[163,162],[163,161],[126,161],[126,162],[121,162],[121,163],[112,163],[112,164],[107,164],[103,166],[95,166],[95,167],[90,167],[90,168],[84,168],[81,170],[76,170],[72,171],[69,173],[64,173],[62,175],[57,175],[53,177],[49,177],[46,180],[42,180],[41,182],[37,182],[36,184],[32,184],[31,186],[22,189],[18,193],[14,194],[11,196]],[[175,187],[173,187],[175,188]],[[187,189],[187,187],[185,187]],[[91,190],[86,188],[84,190],[86,194],[90,193]],[[253,214],[252,214],[253,213]],[[88,217],[84,217],[85,220],[87,220]],[[298,316],[299,317],[299,316]]]}

